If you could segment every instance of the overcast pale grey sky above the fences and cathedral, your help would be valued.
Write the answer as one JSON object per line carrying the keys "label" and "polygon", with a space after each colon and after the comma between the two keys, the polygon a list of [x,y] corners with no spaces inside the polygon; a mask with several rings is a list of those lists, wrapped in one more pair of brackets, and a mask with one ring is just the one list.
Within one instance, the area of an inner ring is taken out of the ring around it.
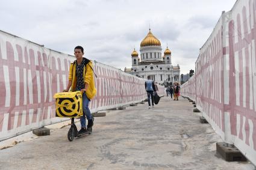
{"label": "overcast pale grey sky above the fences and cathedral", "polygon": [[89,59],[131,68],[131,52],[151,31],[168,44],[181,73],[195,68],[222,11],[236,0],[1,0],[0,30],[73,55],[81,45]]}

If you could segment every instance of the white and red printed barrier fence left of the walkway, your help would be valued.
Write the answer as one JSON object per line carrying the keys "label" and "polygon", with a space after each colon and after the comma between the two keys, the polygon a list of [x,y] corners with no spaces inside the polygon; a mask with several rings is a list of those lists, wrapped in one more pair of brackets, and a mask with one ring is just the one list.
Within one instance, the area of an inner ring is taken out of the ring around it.
{"label": "white and red printed barrier fence left of the walkway", "polygon": [[[66,118],[55,117],[53,95],[67,86],[74,56],[0,31],[0,141]],[[145,79],[93,62],[97,94],[92,112],[146,99]],[[158,85],[159,94],[164,87]]]}

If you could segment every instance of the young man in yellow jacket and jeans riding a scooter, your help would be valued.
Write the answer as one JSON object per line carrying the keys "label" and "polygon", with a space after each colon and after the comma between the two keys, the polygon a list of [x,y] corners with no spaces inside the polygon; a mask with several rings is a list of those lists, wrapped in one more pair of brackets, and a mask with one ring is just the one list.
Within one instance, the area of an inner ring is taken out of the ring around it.
{"label": "young man in yellow jacket and jeans riding a scooter", "polygon": [[[84,58],[84,49],[81,46],[76,46],[74,49],[76,60],[70,64],[69,68],[69,83],[66,90],[63,91],[81,91],[83,93],[83,116],[80,117],[81,130],[78,134],[87,132],[89,127],[93,126],[93,117],[90,113],[89,102],[96,94],[95,83],[93,79],[92,61]],[[86,118],[88,125],[86,129]]]}

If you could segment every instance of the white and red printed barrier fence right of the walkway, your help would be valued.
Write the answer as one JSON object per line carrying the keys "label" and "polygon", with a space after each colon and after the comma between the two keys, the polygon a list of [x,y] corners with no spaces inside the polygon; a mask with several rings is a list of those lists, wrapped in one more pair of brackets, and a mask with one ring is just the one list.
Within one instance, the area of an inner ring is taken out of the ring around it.
{"label": "white and red printed barrier fence right of the walkway", "polygon": [[226,142],[256,165],[256,1],[239,0],[223,13],[181,94]]}

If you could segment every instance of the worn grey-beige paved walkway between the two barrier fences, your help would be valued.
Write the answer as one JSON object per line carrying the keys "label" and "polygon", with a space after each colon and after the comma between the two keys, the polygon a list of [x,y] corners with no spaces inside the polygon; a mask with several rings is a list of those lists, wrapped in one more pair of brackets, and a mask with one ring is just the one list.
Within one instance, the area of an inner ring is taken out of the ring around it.
{"label": "worn grey-beige paved walkway between the two barrier fences", "polygon": [[[77,123],[78,126],[80,123]],[[249,162],[225,162],[222,141],[187,99],[163,97],[96,117],[93,134],[67,140],[69,126],[0,150],[0,169],[254,169]]]}

